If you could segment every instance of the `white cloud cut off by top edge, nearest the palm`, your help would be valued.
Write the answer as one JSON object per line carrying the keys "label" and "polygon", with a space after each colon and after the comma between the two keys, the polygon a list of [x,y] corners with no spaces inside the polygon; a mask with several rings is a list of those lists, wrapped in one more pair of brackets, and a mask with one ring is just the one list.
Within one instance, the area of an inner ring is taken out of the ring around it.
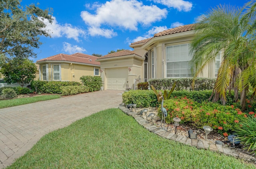
{"label": "white cloud cut off by top edge, nearest the palm", "polygon": [[151,0],[158,4],[163,4],[168,8],[175,8],[178,11],[188,12],[192,9],[193,4],[184,0]]}

